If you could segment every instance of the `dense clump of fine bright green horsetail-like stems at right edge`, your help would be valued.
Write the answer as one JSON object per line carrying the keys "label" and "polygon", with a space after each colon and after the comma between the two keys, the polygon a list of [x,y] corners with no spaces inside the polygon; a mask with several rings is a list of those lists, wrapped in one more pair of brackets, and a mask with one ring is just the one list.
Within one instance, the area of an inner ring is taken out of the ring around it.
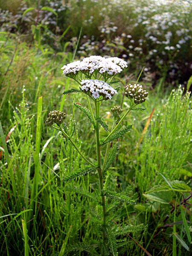
{"label": "dense clump of fine bright green horsetail-like stems at right edge", "polygon": [[[173,90],[168,99],[164,99],[162,108],[156,107],[151,125],[143,135],[142,151],[137,155],[139,164],[135,165],[138,187],[142,194],[151,187],[160,186],[164,178],[176,180],[181,174],[184,176],[191,172],[190,101],[190,94],[183,95],[183,90],[179,88]],[[184,171],[181,172],[182,169]]]}

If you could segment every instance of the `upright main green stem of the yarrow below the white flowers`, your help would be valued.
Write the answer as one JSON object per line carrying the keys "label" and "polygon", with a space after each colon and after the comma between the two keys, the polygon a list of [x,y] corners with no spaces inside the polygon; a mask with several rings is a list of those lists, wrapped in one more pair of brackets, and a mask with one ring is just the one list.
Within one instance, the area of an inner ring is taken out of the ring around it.
{"label": "upright main green stem of the yarrow below the white flowers", "polygon": [[[95,109],[96,109],[96,119],[99,119],[99,109],[100,102],[95,101]],[[98,174],[99,174],[99,186],[102,198],[102,208],[103,208],[103,243],[107,239],[106,236],[106,204],[105,204],[105,195],[103,194],[103,176],[101,169],[101,146],[99,143],[99,122],[96,120],[96,148],[97,148],[97,166],[98,166]]]}

